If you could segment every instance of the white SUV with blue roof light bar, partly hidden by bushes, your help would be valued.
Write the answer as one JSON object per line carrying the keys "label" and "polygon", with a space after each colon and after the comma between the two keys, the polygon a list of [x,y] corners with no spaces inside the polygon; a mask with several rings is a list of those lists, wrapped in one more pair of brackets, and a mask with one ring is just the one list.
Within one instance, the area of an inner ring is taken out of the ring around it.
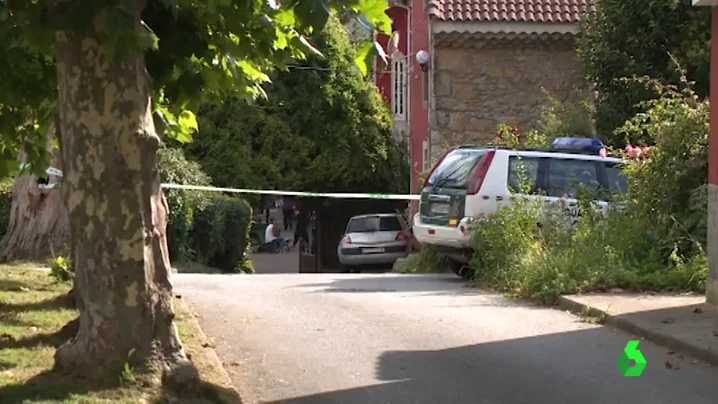
{"label": "white SUV with blue roof light bar, partly hidden by bushes", "polygon": [[[549,149],[509,149],[462,146],[448,150],[437,161],[421,190],[414,235],[434,247],[457,274],[473,251],[469,223],[511,203],[519,186],[531,185],[528,198],[546,202],[564,199],[566,213],[580,216],[578,189],[615,195],[626,190],[623,160],[605,157],[598,139],[557,138]],[[607,200],[596,201],[602,208]]]}

